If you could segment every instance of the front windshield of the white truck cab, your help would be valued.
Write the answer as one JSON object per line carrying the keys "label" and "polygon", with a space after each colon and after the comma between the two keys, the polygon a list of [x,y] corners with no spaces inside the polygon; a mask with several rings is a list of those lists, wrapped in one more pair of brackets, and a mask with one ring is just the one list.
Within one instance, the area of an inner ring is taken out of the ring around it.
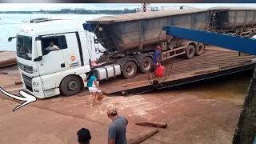
{"label": "front windshield of the white truck cab", "polygon": [[17,56],[26,60],[31,60],[32,37],[17,35]]}

